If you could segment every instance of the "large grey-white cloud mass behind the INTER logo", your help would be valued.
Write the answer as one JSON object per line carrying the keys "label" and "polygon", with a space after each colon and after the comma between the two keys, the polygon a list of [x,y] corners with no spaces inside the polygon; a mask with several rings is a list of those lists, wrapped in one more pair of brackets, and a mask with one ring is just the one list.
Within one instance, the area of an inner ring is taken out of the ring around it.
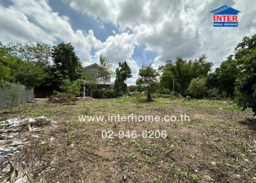
{"label": "large grey-white cloud mass behind the INTER logo", "polygon": [[[139,44],[157,52],[155,67],[177,56],[196,58],[203,53],[218,66],[243,36],[256,31],[254,0],[68,2],[76,10],[110,21],[122,31],[131,29]],[[211,10],[225,4],[242,12],[238,28],[212,28]]]}

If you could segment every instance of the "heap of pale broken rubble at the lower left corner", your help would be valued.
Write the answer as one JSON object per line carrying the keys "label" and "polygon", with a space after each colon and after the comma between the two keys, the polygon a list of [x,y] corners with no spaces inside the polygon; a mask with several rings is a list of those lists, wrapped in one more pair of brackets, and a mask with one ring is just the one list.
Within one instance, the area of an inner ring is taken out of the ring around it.
{"label": "heap of pale broken rubble at the lower left corner", "polygon": [[13,159],[29,144],[39,138],[47,125],[56,125],[55,120],[45,116],[38,118],[14,118],[0,122],[0,182],[28,182],[26,173],[13,163]]}

